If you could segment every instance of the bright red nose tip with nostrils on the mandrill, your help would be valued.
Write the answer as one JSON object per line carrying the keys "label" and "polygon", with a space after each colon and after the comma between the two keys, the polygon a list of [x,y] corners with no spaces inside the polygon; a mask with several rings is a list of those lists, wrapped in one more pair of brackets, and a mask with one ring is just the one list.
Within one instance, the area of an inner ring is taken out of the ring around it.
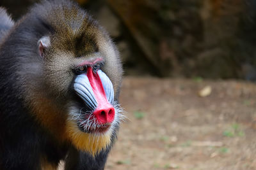
{"label": "bright red nose tip with nostrils on the mandrill", "polygon": [[113,122],[115,117],[115,109],[108,103],[102,105],[100,104],[97,109],[93,111],[93,115],[95,115],[100,124]]}

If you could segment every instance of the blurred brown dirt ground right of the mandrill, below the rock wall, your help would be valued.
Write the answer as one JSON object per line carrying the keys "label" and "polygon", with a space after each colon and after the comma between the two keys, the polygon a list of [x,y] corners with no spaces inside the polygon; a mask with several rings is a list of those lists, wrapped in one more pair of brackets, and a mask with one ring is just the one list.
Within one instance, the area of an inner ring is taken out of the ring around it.
{"label": "blurred brown dirt ground right of the mandrill, below the rock wall", "polygon": [[107,170],[256,169],[253,83],[128,77],[120,103],[129,119]]}

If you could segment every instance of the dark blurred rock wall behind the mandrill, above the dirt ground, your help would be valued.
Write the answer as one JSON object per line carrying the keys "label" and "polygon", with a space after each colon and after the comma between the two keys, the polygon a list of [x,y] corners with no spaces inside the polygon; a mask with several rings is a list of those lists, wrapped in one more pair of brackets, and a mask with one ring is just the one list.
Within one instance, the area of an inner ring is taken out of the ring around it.
{"label": "dark blurred rock wall behind the mandrill, above the dirt ground", "polygon": [[[0,5],[17,19],[34,2]],[[77,2],[115,39],[126,74],[256,80],[256,1]]]}

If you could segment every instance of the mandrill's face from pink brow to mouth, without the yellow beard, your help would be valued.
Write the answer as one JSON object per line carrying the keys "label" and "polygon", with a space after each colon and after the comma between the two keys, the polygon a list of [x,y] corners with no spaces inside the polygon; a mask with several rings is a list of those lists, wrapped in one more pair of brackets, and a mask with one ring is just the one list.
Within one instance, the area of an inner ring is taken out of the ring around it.
{"label": "mandrill's face from pink brow to mouth, without the yellow beard", "polygon": [[[74,90],[81,97],[81,110],[74,117],[81,131],[103,134],[108,131],[115,118],[114,89],[111,80],[101,70],[102,59],[86,62],[75,69]],[[84,110],[84,111],[83,111]]]}

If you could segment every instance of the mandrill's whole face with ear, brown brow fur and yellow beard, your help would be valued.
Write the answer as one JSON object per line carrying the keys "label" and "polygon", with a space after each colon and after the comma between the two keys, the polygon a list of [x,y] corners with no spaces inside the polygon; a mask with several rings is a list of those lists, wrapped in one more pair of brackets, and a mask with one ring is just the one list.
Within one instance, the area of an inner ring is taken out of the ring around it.
{"label": "mandrill's whole face with ear, brown brow fur and yellow beard", "polygon": [[[88,18],[85,20],[75,31],[53,27],[53,33],[38,40],[43,60],[40,84],[45,85],[42,96],[54,99],[54,109],[45,110],[60,112],[51,114],[56,114],[56,121],[63,120],[64,140],[95,155],[115,138],[123,118],[117,101],[122,67],[108,35]],[[45,122],[47,116],[42,114],[50,113],[38,112]]]}

